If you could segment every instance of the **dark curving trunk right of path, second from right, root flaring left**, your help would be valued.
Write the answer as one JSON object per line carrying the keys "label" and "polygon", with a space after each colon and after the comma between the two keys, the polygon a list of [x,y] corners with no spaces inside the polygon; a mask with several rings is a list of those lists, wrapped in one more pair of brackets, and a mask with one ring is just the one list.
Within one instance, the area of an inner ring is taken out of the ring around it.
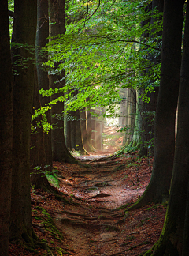
{"label": "dark curving trunk right of path, second from right, root flaring left", "polygon": [[180,83],[183,2],[165,1],[161,82],[154,125],[154,165],[143,196],[130,209],[169,196],[175,152],[175,119]]}

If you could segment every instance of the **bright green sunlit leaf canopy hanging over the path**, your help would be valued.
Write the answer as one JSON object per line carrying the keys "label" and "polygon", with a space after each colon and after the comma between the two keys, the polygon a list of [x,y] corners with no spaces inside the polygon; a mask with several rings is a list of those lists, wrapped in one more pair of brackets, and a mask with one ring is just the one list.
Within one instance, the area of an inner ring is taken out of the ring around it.
{"label": "bright green sunlit leaf canopy hanging over the path", "polygon": [[[43,96],[62,92],[66,101],[65,112],[83,107],[106,107],[114,115],[114,106],[120,103],[121,88],[144,88],[143,100],[149,101],[147,92],[154,92],[159,84],[160,63],[151,56],[160,54],[161,40],[144,37],[161,30],[161,21],[141,26],[141,22],[161,13],[146,12],[149,1],[69,1],[66,6],[67,32],[54,36],[43,49],[49,55],[49,73],[65,70],[65,87],[49,90]],[[143,73],[148,68],[148,73]],[[153,85],[151,85],[151,81]],[[70,90],[68,92],[68,88]],[[78,91],[76,96],[72,92]],[[87,100],[86,100],[87,99]]]}

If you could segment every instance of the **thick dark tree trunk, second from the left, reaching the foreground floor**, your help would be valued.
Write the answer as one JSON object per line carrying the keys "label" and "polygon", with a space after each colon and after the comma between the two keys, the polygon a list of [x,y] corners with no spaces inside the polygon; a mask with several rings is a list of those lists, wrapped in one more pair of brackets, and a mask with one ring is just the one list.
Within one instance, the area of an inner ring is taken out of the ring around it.
{"label": "thick dark tree trunk, second from the left, reaching the foreground floor", "polygon": [[[13,92],[13,183],[10,239],[24,239],[33,245],[30,198],[30,132],[31,107],[34,90],[35,33],[37,1],[15,0],[13,42],[27,44],[13,48],[13,62],[17,75]],[[29,49],[28,49],[29,48]],[[27,63],[22,61],[27,60]]]}

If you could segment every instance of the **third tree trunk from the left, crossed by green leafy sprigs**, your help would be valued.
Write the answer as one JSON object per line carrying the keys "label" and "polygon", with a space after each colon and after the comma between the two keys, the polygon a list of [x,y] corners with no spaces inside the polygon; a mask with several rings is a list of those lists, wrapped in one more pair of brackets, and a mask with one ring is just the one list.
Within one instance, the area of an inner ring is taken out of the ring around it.
{"label": "third tree trunk from the left, crossed by green leafy sprigs", "polygon": [[[48,20],[48,2],[46,0],[38,0],[38,21],[36,32],[36,61],[37,72],[35,75],[35,90],[33,107],[45,107],[46,103],[50,101],[49,97],[42,97],[39,95],[39,89],[49,89],[48,73],[43,70],[42,63],[46,62],[47,56],[42,55],[41,48],[48,42],[49,36],[49,20]],[[47,122],[50,122],[50,112],[46,116]],[[31,184],[37,189],[43,189],[46,192],[54,192],[54,187],[46,179],[46,175],[42,171],[52,170],[52,149],[51,149],[51,131],[48,134],[43,132],[43,127],[39,127],[36,122],[41,122],[42,117],[39,116],[33,121],[31,125],[35,126],[33,134],[31,134]],[[40,167],[38,170],[37,167]]]}

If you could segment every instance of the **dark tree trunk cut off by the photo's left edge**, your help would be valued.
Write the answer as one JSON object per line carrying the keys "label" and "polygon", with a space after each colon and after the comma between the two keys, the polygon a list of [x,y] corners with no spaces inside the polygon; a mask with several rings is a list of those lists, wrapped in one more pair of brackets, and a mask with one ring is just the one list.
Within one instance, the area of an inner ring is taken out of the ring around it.
{"label": "dark tree trunk cut off by the photo's left edge", "polygon": [[0,255],[8,256],[13,149],[13,77],[9,46],[8,1],[0,8]]}

